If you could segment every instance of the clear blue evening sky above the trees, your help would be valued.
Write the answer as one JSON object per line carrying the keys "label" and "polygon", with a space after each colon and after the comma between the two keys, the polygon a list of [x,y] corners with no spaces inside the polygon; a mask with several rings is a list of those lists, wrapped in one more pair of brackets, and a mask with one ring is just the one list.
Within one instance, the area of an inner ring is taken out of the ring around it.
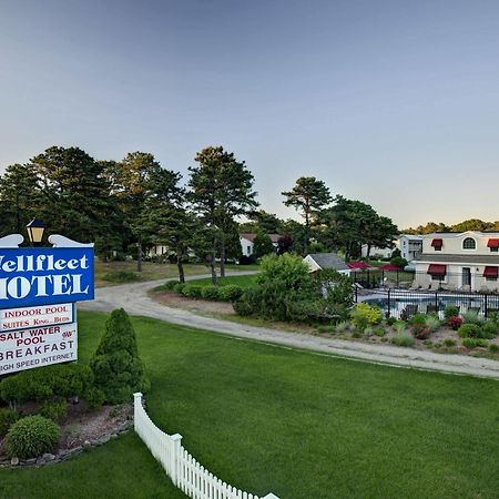
{"label": "clear blue evening sky above the trees", "polygon": [[299,176],[405,228],[499,220],[496,0],[0,0],[0,173],[51,145]]}

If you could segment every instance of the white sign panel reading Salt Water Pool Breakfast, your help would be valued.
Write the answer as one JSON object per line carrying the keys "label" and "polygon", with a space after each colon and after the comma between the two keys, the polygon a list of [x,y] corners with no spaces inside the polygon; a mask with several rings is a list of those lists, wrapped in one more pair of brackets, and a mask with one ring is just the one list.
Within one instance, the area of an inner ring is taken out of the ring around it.
{"label": "white sign panel reading Salt Water Pool Breakfast", "polygon": [[0,375],[77,358],[75,323],[0,333]]}

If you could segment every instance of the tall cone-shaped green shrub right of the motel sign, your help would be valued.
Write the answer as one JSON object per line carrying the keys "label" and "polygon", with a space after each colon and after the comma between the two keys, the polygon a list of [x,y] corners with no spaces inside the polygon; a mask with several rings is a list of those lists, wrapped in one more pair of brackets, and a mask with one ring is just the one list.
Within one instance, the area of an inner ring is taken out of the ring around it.
{"label": "tall cone-shaped green shrub right of the motel sign", "polygon": [[99,347],[90,360],[95,385],[111,404],[129,401],[134,391],[146,391],[149,381],[139,358],[135,332],[123,308],[111,313]]}

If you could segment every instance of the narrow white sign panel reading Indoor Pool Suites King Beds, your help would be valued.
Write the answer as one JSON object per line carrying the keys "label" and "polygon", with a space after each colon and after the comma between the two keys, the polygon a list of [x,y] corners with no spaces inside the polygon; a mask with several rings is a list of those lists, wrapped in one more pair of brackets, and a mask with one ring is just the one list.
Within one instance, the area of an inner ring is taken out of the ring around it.
{"label": "narrow white sign panel reading Indoor Pool Suites King Beds", "polygon": [[72,303],[6,308],[0,310],[0,332],[51,326],[53,324],[69,324],[73,322],[74,306]]}

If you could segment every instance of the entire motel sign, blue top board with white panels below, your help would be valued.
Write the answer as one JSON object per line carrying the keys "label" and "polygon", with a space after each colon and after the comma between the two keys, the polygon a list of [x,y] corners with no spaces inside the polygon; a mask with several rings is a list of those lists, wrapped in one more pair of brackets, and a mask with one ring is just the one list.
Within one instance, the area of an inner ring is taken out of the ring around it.
{"label": "entire motel sign, blue top board with white panels below", "polygon": [[75,303],[93,299],[93,244],[52,235],[52,247],[0,238],[0,376],[77,360]]}

